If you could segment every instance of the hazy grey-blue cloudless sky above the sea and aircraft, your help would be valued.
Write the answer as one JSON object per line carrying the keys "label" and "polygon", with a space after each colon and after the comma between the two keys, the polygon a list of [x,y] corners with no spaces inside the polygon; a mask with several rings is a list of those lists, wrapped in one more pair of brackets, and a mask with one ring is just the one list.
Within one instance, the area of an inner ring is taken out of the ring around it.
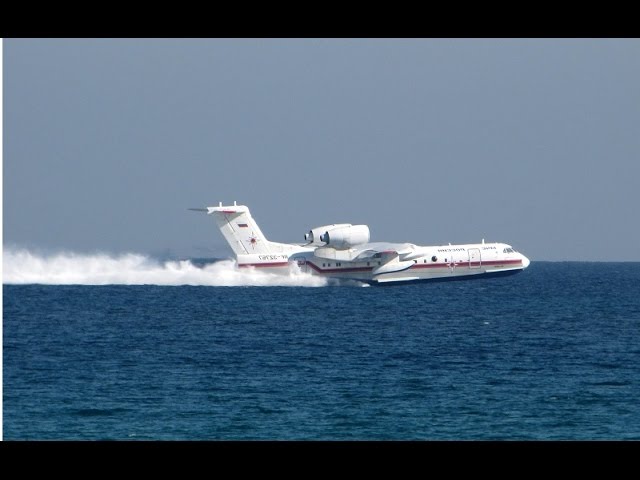
{"label": "hazy grey-blue cloudless sky above the sea and aircraft", "polygon": [[503,241],[640,261],[640,40],[5,39],[4,246]]}

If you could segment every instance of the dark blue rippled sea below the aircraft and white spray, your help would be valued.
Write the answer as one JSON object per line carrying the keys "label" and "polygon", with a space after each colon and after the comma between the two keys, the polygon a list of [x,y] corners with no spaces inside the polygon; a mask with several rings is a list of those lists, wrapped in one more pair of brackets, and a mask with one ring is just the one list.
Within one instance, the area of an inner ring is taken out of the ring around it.
{"label": "dark blue rippled sea below the aircraft and white spray", "polygon": [[6,440],[640,439],[640,263],[4,285],[3,308]]}

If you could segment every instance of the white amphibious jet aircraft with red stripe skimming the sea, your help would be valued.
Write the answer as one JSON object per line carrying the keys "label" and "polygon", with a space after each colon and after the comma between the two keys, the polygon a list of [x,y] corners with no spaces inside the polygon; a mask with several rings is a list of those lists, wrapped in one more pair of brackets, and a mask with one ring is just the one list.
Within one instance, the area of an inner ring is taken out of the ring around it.
{"label": "white amphibious jet aircraft with red stripe skimming the sea", "polygon": [[311,229],[306,244],[267,240],[245,205],[198,209],[212,215],[236,255],[238,268],[302,272],[370,284],[463,280],[521,272],[529,259],[506,243],[419,246],[369,242],[366,225],[332,224]]}

